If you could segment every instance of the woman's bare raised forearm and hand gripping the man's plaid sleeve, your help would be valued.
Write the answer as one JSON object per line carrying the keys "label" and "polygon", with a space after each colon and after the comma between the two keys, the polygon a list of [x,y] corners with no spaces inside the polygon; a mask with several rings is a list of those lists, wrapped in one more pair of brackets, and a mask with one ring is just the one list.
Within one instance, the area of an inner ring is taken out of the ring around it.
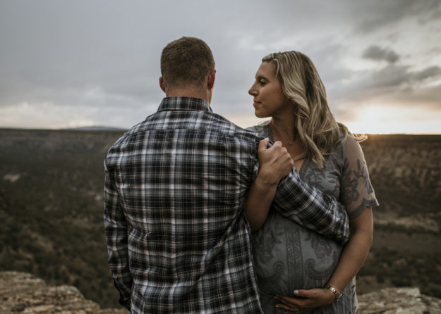
{"label": "woman's bare raised forearm and hand gripping the man's plaid sleeve", "polygon": [[263,139],[259,143],[260,169],[246,199],[245,214],[252,232],[265,222],[277,185],[294,167],[294,161],[282,147],[282,142],[275,142],[267,149],[269,142],[270,139]]}

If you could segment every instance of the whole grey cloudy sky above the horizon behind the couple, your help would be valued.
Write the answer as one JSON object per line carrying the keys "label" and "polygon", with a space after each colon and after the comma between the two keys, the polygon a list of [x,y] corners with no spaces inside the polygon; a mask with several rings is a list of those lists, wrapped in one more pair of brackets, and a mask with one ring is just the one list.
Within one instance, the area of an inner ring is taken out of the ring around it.
{"label": "whole grey cloudy sky above the horizon behind the couple", "polygon": [[439,0],[0,0],[0,127],[131,127],[161,101],[162,48],[204,39],[212,108],[255,124],[262,56],[310,56],[353,132],[441,134]]}

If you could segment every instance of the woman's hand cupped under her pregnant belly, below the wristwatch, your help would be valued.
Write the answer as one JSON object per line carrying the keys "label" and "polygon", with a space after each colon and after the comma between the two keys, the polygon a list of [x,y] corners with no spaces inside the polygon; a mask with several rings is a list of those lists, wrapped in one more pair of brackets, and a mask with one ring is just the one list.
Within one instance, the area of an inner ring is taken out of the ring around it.
{"label": "woman's hand cupped under her pregnant belly, below the wristwatch", "polygon": [[286,313],[298,314],[327,306],[335,300],[334,294],[328,289],[298,289],[294,291],[295,297],[291,296],[274,296],[275,299],[280,301],[277,303],[277,308],[283,308]]}

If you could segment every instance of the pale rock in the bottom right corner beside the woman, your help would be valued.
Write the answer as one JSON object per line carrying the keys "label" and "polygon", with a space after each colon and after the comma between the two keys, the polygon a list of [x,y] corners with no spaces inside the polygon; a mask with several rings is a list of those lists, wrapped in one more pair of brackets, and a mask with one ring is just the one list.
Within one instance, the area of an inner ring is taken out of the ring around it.
{"label": "pale rock in the bottom right corner beside the woman", "polygon": [[441,314],[441,300],[418,288],[386,288],[358,296],[361,314]]}

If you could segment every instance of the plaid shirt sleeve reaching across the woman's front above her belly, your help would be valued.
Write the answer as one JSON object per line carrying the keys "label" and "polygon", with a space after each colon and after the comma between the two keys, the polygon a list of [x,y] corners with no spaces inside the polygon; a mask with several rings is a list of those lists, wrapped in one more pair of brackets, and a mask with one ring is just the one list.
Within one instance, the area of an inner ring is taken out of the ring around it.
{"label": "plaid shirt sleeve reaching across the woman's front above her belly", "polygon": [[299,225],[344,243],[349,239],[346,208],[333,196],[310,186],[293,168],[277,187],[274,209]]}

